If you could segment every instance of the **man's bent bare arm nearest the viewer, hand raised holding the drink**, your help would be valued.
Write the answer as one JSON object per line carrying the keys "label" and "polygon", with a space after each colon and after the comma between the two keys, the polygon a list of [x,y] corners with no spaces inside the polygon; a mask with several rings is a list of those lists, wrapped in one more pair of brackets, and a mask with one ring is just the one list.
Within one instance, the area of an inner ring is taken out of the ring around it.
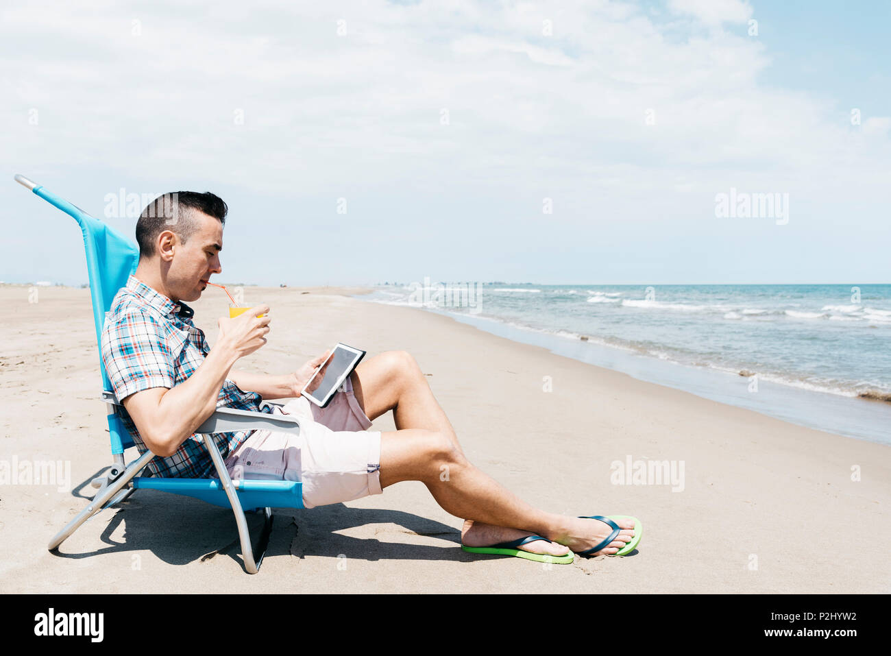
{"label": "man's bent bare arm nearest the viewer, hand raised holding the drink", "polygon": [[234,319],[220,319],[217,345],[188,380],[172,389],[143,389],[122,400],[153,454],[175,454],[195,429],[214,414],[220,389],[235,362],[266,344],[269,317],[257,318],[257,314],[268,312],[269,307],[251,310]]}

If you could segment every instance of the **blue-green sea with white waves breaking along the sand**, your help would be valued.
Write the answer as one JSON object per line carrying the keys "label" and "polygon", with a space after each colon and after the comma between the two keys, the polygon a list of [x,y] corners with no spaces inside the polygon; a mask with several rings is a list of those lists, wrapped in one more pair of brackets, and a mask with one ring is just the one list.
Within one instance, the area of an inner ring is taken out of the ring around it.
{"label": "blue-green sea with white waves breaking along the sand", "polygon": [[891,284],[388,283],[423,307],[644,381],[891,445]]}

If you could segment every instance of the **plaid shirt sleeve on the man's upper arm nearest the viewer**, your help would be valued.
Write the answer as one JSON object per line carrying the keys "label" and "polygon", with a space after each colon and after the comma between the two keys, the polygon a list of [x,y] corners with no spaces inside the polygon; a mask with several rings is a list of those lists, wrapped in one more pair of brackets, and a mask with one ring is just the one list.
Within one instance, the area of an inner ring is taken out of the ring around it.
{"label": "plaid shirt sleeve on the man's upper arm nearest the viewer", "polygon": [[174,386],[174,354],[161,326],[137,308],[127,308],[106,322],[102,364],[119,401],[143,389]]}

